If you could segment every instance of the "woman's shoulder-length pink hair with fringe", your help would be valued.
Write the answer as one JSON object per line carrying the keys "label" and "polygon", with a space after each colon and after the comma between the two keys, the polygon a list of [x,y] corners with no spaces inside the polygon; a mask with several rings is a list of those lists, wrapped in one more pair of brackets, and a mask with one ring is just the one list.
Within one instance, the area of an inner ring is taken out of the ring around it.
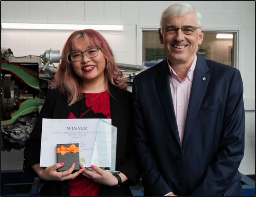
{"label": "woman's shoulder-length pink hair with fringe", "polygon": [[[96,30],[77,30],[67,39],[61,53],[61,63],[58,66],[53,82],[50,84],[53,89],[57,89],[68,98],[69,106],[81,100],[83,96],[82,79],[73,71],[69,56],[70,53],[77,50],[76,46],[81,40],[89,46],[101,48],[107,65],[104,71],[106,84],[109,85],[111,83],[119,89],[125,89],[127,86],[127,81],[122,78],[123,73],[115,63],[113,51],[107,40]],[[107,90],[109,91],[109,88]]]}

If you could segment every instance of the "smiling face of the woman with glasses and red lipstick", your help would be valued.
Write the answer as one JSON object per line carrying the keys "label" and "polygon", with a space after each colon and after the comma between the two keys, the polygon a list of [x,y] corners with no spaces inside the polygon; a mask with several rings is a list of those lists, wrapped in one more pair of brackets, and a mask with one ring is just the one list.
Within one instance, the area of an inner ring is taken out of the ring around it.
{"label": "smiling face of the woman with glasses and red lipstick", "polygon": [[[95,49],[88,50],[91,48],[95,48]],[[98,52],[98,55],[96,57],[88,57],[84,51],[86,51],[88,56],[90,56],[90,54],[93,54],[93,53],[96,53],[97,55],[97,52]],[[96,46],[89,46],[84,42],[83,39],[81,39],[76,45],[75,51],[73,52],[83,52],[82,59],[80,61],[74,62],[71,59],[71,65],[75,73],[80,78],[82,78],[84,82],[97,82],[98,80],[99,81],[105,80],[104,69],[106,65],[106,59],[103,56],[101,49],[97,50]],[[73,58],[75,60],[78,54],[74,54],[74,55],[75,56],[72,56],[72,57],[75,57]]]}

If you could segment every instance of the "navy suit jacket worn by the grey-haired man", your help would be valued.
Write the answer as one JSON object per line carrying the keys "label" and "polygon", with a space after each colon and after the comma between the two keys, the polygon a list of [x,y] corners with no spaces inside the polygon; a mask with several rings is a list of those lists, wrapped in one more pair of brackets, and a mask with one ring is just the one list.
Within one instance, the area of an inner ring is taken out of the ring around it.
{"label": "navy suit jacket worn by the grey-haired man", "polygon": [[197,63],[181,146],[167,60],[133,80],[135,145],[145,196],[240,196],[244,154],[243,83],[239,70]]}

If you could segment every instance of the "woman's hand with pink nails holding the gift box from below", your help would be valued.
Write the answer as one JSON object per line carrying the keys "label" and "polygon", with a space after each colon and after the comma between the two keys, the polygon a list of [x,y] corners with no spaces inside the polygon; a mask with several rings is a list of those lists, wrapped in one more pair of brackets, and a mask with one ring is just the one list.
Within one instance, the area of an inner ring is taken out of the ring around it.
{"label": "woman's hand with pink nails holding the gift box from below", "polygon": [[64,163],[57,163],[53,166],[45,168],[40,167],[39,164],[35,164],[32,166],[32,169],[43,180],[70,180],[76,178],[79,174],[81,174],[84,171],[84,169],[80,169],[79,171],[72,174],[76,166],[76,163],[73,163],[69,170],[58,172],[57,169],[64,165]]}

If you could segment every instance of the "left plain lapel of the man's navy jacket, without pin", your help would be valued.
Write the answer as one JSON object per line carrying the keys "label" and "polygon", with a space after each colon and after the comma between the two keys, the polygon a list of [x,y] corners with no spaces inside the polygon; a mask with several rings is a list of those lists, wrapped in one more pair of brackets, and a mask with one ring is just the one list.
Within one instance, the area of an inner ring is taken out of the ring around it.
{"label": "left plain lapel of the man's navy jacket, without pin", "polygon": [[170,82],[169,82],[169,69],[167,64],[167,59],[165,60],[165,63],[163,66],[158,70],[158,75],[156,77],[156,88],[157,93],[159,95],[160,101],[163,106],[163,110],[166,114],[167,121],[169,123],[169,126],[171,127],[175,138],[180,144],[180,138],[179,138],[179,132],[176,122],[176,117],[174,113],[173,108],[173,101],[172,101],[172,93],[170,88]]}

